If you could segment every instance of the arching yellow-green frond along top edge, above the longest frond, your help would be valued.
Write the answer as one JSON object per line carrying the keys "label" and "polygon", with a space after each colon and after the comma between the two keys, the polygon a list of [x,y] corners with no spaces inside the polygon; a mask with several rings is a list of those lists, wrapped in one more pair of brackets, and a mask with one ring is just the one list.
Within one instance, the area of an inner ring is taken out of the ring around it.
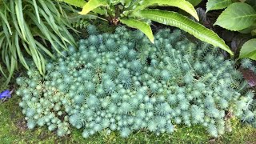
{"label": "arching yellow-green frond along top edge, above the longest frond", "polygon": [[134,11],[144,10],[149,6],[175,6],[191,14],[199,21],[198,14],[196,10],[194,10],[194,6],[186,0],[143,0],[142,4],[137,6]]}

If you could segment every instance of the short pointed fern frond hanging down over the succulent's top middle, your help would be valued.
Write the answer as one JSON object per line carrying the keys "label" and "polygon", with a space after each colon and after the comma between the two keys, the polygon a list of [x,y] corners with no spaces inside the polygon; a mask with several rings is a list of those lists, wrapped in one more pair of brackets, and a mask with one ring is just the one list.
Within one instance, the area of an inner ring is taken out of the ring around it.
{"label": "short pointed fern frond hanging down over the succulent's top middle", "polygon": [[152,33],[151,27],[146,22],[138,21],[131,18],[120,19],[120,22],[122,22],[123,24],[126,24],[127,26],[141,30],[142,33],[146,34],[146,36],[150,39],[150,42],[154,43],[154,35]]}

